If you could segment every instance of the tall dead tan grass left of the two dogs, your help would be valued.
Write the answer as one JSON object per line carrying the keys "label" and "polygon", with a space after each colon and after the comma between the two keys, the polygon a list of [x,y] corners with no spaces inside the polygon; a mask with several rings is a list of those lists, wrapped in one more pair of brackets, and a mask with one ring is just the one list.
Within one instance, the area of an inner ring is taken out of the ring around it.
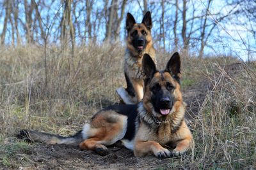
{"label": "tall dead tan grass left of the two dogs", "polygon": [[124,84],[120,45],[77,48],[74,57],[52,47],[47,82],[43,48],[20,46],[1,52],[2,135],[17,127],[72,133],[95,110],[118,101],[115,88]]}

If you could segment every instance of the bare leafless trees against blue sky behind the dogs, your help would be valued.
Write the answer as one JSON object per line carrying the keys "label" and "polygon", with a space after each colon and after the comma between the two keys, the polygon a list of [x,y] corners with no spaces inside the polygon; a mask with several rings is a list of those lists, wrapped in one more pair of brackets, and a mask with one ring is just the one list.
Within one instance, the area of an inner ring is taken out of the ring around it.
{"label": "bare leafless trees against blue sky behind the dogs", "polygon": [[157,49],[255,58],[255,0],[2,0],[0,8],[2,45],[68,46],[73,55],[89,43],[124,45],[126,13],[141,22],[149,10]]}

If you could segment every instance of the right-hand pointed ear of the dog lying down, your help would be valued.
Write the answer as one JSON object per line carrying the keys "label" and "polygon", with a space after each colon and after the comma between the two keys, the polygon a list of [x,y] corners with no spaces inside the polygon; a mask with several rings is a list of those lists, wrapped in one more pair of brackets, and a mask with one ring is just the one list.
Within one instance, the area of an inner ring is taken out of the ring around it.
{"label": "right-hand pointed ear of the dog lying down", "polygon": [[171,59],[168,61],[165,71],[168,71],[172,77],[180,83],[180,55],[173,53]]}

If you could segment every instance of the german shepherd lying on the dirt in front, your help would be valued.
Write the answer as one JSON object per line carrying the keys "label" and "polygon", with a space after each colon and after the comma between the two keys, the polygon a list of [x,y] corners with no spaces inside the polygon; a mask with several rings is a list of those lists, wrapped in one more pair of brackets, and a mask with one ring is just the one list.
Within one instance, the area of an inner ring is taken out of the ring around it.
{"label": "german shepherd lying on the dirt in front", "polygon": [[163,71],[157,71],[147,54],[142,65],[145,95],[140,103],[109,106],[96,113],[74,136],[22,130],[19,137],[47,144],[79,145],[99,155],[106,155],[106,146],[118,140],[136,157],[148,153],[171,157],[186,152],[193,146],[193,136],[184,120],[186,104],[180,92],[179,53],[173,54]]}

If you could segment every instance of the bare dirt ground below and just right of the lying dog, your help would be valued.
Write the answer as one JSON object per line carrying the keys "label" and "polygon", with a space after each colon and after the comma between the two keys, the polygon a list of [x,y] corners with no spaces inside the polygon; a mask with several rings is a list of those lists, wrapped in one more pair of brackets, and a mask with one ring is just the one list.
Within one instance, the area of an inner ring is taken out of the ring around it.
{"label": "bare dirt ground below and just right of the lying dog", "polygon": [[[184,90],[184,101],[188,104],[186,117],[189,122],[198,113],[207,91],[205,83]],[[186,157],[186,156],[185,156]],[[121,143],[109,147],[109,154],[101,157],[92,151],[64,145],[33,144],[29,150],[19,153],[19,169],[168,169],[173,159],[157,159],[154,156],[134,157]],[[25,163],[22,162],[22,160]],[[11,169],[17,169],[10,166]],[[1,168],[0,169],[5,169]],[[9,169],[9,168],[8,168]]]}

